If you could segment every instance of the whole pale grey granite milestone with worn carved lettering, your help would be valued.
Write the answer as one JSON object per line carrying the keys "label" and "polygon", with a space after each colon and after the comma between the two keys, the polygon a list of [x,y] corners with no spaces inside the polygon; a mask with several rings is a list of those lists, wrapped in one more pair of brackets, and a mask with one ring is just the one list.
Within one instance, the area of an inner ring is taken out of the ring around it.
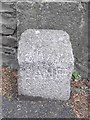
{"label": "whole pale grey granite milestone with worn carved lettering", "polygon": [[18,48],[18,92],[67,100],[74,68],[69,35],[62,30],[25,31]]}

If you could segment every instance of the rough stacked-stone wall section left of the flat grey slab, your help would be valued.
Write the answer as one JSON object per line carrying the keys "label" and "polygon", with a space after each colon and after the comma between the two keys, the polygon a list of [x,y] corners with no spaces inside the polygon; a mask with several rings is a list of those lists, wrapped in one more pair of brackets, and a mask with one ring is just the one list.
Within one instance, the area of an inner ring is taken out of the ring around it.
{"label": "rough stacked-stone wall section left of the flat grey slab", "polygon": [[17,69],[17,19],[16,19],[16,4],[0,3],[0,56],[4,66],[10,66]]}

